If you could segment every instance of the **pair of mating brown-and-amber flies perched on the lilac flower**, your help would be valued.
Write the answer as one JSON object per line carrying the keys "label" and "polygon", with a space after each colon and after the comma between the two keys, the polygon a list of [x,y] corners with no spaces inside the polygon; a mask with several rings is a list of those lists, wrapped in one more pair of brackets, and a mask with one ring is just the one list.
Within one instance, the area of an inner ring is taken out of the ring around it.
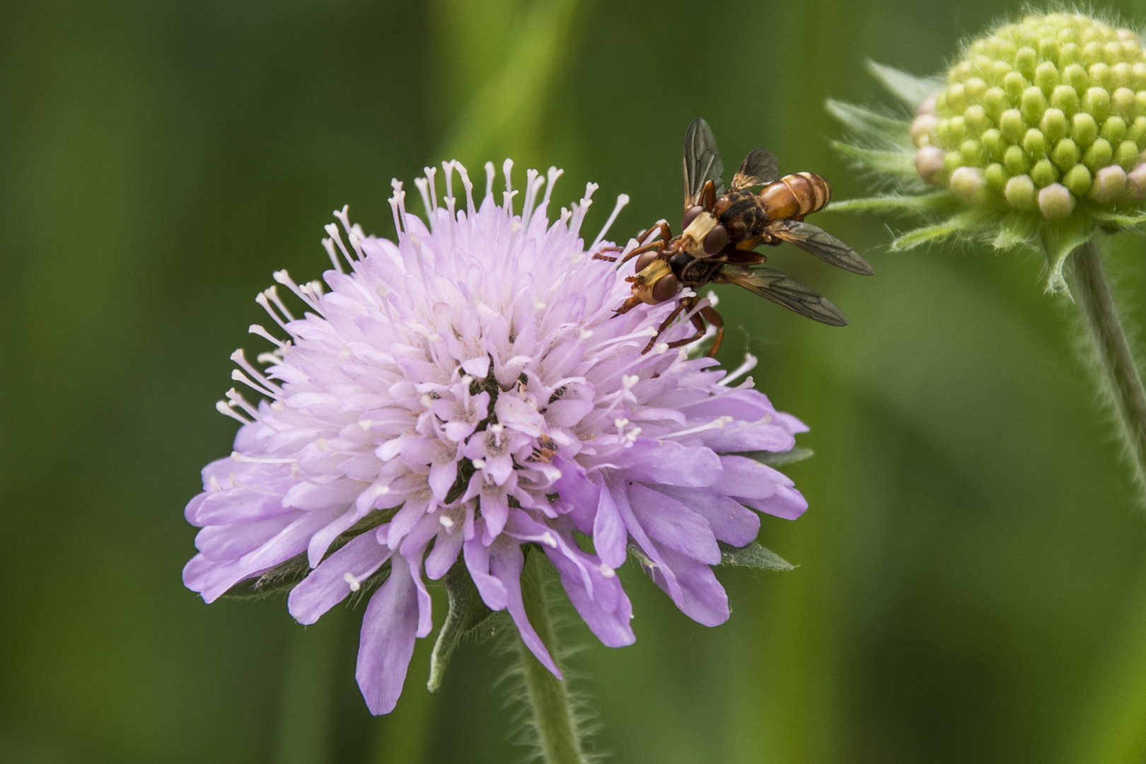
{"label": "pair of mating brown-and-amber flies perched on the lilac flower", "polygon": [[[872,268],[851,247],[803,222],[804,215],[822,210],[831,198],[827,181],[813,173],[780,178],[771,151],[755,149],[732,176],[732,188],[724,190],[721,175],[724,166],[716,150],[716,140],[708,123],[699,117],[684,134],[684,218],[682,231],[673,236],[661,221],[641,234],[643,243],[652,233],[660,237],[629,251],[621,260],[636,258],[633,296],[618,313],[628,313],[642,302],[658,305],[677,299],[685,289],[691,294],[680,298],[676,308],[657,330],[644,352],[652,349],[657,338],[681,315],[691,316],[697,333],[669,342],[680,347],[704,337],[707,323],[716,326],[708,355],[715,355],[724,334],[724,322],[712,307],[697,310],[697,290],[706,284],[739,284],[749,292],[783,305],[800,315],[833,326],[848,323],[839,308],[810,288],[779,270],[761,267],[767,258],[753,250],[762,244],[791,242],[801,250],[851,273],[871,275]],[[759,194],[749,189],[762,186]],[[615,261],[604,254],[602,260]]]}

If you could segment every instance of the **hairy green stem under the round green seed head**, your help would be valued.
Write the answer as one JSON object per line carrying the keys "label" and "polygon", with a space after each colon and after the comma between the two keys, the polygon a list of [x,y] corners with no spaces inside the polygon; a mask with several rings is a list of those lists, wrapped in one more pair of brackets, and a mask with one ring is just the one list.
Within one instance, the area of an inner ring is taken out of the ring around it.
{"label": "hairy green stem under the round green seed head", "polygon": [[1114,401],[1135,478],[1139,489],[1146,490],[1146,391],[1138,365],[1122,329],[1098,245],[1093,239],[1088,241],[1074,251],[1072,259],[1075,282],[1072,291]]}

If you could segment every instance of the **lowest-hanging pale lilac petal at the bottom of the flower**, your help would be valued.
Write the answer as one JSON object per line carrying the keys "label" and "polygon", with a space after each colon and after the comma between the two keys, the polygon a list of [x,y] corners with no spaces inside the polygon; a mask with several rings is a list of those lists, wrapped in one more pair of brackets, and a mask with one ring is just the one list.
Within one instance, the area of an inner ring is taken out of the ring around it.
{"label": "lowest-hanging pale lilac petal at the bottom of the flower", "polygon": [[362,616],[358,669],[354,677],[375,716],[390,714],[398,704],[406,670],[414,654],[418,628],[418,598],[414,578],[405,565],[392,566]]}

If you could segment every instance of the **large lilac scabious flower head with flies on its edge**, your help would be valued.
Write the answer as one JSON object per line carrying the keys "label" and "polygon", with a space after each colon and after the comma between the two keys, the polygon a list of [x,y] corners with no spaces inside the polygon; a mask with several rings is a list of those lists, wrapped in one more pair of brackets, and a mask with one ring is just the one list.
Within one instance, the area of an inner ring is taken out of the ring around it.
{"label": "large lilac scabious flower head with flies on its edge", "polygon": [[397,244],[364,236],[344,208],[348,246],[327,227],[325,288],[275,274],[305,313],[275,288],[258,297],[277,331],[251,332],[274,349],[258,365],[231,357],[233,378],[261,400],[231,389],[220,401],[243,426],[186,510],[202,530],[183,582],[207,602],[285,581],[290,613],[307,624],[374,588],[356,671],[374,714],[394,708],[414,640],[432,629],[425,580],[458,559],[560,677],[523,607],[524,545],[544,551],[578,613],[617,647],[634,641],[615,574],[630,550],[681,611],[716,625],[729,616],[717,542],[749,544],[756,511],[807,509],[791,480],[743,456],[787,451],[804,425],[751,378],[732,384],[715,361],[670,351],[686,321],[642,354],[673,305],[617,315],[631,266],[590,257],[605,231],[584,246],[594,184],[550,223],[559,171],[548,186],[529,171],[516,214],[511,163],[502,204],[486,165],[480,206],[464,167],[444,167],[441,203],[433,171],[417,181],[427,222],[395,181]]}

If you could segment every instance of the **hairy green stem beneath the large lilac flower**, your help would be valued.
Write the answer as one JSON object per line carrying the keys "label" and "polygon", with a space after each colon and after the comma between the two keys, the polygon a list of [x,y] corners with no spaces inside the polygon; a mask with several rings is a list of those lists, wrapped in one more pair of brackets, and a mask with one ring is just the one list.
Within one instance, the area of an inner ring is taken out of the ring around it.
{"label": "hairy green stem beneath the large lilac flower", "polygon": [[[548,565],[549,561],[543,554],[529,554],[526,567],[531,569],[521,576],[521,598],[525,600],[525,613],[529,616],[529,623],[545,643],[549,654],[556,660],[559,652],[557,635],[547,601],[548,586],[542,580],[544,575],[542,568]],[[537,732],[542,761],[545,764],[584,764],[576,719],[573,716],[565,683],[550,674],[549,669],[534,657],[520,635],[517,636],[517,654],[521,661],[526,698]]]}

